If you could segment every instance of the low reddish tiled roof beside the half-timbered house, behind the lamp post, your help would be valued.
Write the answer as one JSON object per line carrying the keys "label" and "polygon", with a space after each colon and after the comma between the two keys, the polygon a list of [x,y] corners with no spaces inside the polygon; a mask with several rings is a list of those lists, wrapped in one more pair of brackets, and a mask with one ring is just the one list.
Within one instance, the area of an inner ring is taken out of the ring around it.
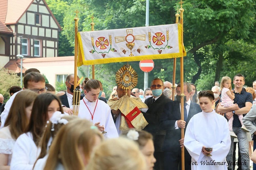
{"label": "low reddish tiled roof beside the half-timbered house, behind the lamp post", "polygon": [[[74,61],[74,56],[65,57],[40,57],[40,58],[23,58],[22,63],[38,63],[38,62],[60,62],[60,61]],[[20,73],[20,59],[9,61],[4,68],[15,73]],[[22,72],[25,73],[27,69],[22,67]]]}

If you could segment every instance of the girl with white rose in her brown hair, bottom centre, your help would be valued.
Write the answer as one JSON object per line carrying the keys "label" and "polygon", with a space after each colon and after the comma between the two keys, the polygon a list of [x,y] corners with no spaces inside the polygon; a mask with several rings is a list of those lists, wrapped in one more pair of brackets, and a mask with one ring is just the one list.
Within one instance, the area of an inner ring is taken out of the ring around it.
{"label": "girl with white rose in her brown hair, bottom centre", "polygon": [[122,136],[139,144],[139,148],[146,159],[147,170],[153,170],[156,158],[154,157],[155,148],[152,134],[143,130],[136,131],[135,129],[130,129],[123,132]]}

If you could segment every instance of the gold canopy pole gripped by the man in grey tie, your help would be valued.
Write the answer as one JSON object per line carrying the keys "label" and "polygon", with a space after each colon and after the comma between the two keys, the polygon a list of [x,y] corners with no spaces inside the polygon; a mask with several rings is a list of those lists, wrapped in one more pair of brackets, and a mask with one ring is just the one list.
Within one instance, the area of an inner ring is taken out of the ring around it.
{"label": "gold canopy pole gripped by the man in grey tie", "polygon": [[[182,25],[182,34],[181,34],[181,41],[182,41],[182,50],[184,49],[183,44],[183,12],[184,9],[182,8],[183,1],[179,2],[181,4],[181,8],[179,9],[180,12],[180,22]],[[184,79],[183,79],[183,56],[181,57],[181,120],[184,120]],[[181,138],[184,138],[184,129],[181,129]],[[185,158],[184,158],[184,147],[181,148],[181,169],[185,170]]]}

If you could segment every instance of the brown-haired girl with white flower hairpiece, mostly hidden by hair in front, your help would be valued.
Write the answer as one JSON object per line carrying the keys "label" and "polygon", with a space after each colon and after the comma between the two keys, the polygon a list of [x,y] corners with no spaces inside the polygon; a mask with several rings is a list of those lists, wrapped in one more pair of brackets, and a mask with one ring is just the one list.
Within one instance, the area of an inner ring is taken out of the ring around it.
{"label": "brown-haired girl with white flower hairpiece, mostly hidden by hair in front", "polygon": [[52,144],[54,137],[56,136],[59,129],[67,124],[70,120],[79,119],[77,116],[69,116],[68,114],[61,114],[61,112],[55,112],[50,118],[50,121],[46,125],[46,129],[39,142],[41,148],[40,155],[34,164],[35,170],[42,170],[45,166],[46,159],[48,158],[49,147]]}

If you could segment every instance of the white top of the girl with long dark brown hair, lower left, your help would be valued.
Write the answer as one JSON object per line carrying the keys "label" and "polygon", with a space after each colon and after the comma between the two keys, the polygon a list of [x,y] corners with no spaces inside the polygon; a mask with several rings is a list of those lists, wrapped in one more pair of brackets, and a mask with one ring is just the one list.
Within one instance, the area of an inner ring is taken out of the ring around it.
{"label": "white top of the girl with long dark brown hair, lower left", "polygon": [[37,157],[41,152],[33,141],[31,132],[18,137],[13,147],[11,170],[32,170]]}

